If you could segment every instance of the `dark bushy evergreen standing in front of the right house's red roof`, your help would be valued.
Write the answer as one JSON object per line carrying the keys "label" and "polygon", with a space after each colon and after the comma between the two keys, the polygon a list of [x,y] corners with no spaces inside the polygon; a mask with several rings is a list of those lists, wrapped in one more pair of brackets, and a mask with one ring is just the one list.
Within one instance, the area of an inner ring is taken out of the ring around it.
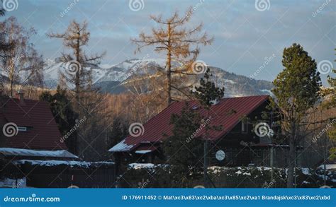
{"label": "dark bushy evergreen standing in front of the right house's red roof", "polygon": [[201,124],[201,115],[185,105],[181,114],[172,114],[172,136],[164,140],[164,155],[172,167],[173,180],[187,187],[188,180],[200,175],[203,157],[201,137],[193,136]]}

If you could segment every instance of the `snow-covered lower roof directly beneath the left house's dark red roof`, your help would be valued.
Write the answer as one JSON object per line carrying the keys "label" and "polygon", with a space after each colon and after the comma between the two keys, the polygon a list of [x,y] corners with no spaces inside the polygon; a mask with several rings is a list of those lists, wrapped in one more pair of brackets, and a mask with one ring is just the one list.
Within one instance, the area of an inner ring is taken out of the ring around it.
{"label": "snow-covered lower roof directly beneath the left house's dark red roof", "polygon": [[8,156],[32,156],[48,158],[78,158],[67,150],[28,150],[21,148],[0,148],[0,154]]}

